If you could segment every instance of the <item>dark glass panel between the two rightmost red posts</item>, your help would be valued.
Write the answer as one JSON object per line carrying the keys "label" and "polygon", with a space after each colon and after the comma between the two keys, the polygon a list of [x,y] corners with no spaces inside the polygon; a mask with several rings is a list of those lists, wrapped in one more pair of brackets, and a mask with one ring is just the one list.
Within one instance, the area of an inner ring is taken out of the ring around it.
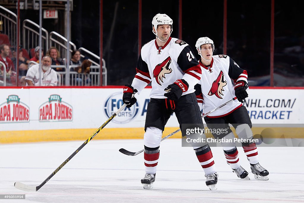
{"label": "dark glass panel between the two rightmost red posts", "polygon": [[227,1],[227,55],[250,86],[270,85],[271,1]]}

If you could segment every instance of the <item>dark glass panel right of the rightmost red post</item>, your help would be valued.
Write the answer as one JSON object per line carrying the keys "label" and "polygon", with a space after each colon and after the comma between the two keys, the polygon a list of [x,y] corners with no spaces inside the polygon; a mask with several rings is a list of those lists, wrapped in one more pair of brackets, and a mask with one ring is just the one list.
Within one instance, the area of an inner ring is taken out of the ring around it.
{"label": "dark glass panel right of the rightmost red post", "polygon": [[[295,2],[293,5],[301,5],[302,1]],[[290,5],[275,1],[275,86],[304,86],[303,12],[301,6]]]}

